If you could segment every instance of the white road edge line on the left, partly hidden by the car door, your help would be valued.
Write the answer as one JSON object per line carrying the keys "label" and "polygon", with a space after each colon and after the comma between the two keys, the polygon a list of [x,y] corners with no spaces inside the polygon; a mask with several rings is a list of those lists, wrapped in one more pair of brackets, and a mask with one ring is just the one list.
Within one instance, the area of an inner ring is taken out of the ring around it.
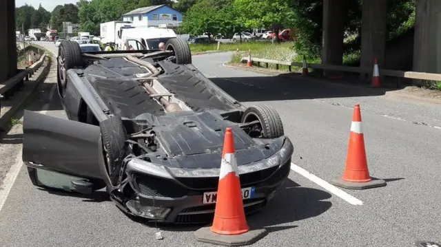
{"label": "white road edge line on the left, partly hidden by the car door", "polygon": [[[41,108],[41,111],[39,111],[40,114],[46,114],[48,113],[50,102],[52,101],[52,98],[55,94],[55,89],[57,87],[54,87],[52,85],[52,88],[50,89],[49,103],[46,103]],[[23,120],[23,117],[21,117],[21,120]],[[19,172],[21,170],[21,166],[23,165],[23,158],[21,157],[23,155],[23,149],[20,149],[19,153],[17,153],[17,157],[15,158],[14,164],[12,164],[11,168],[9,169],[8,173],[6,173],[6,177],[3,180],[3,184],[0,187],[0,211],[1,208],[3,208],[3,204],[5,204],[6,199],[8,198],[8,195],[12,189],[12,186],[14,185],[15,180],[17,179],[17,176],[19,175]]]}

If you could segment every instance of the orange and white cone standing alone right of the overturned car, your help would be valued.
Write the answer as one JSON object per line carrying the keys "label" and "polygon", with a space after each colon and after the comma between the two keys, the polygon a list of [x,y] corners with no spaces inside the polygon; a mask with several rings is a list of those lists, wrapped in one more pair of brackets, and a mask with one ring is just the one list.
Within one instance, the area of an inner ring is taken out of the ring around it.
{"label": "orange and white cone standing alone right of the overturned car", "polygon": [[331,184],[346,189],[369,189],[386,185],[384,180],[373,180],[369,175],[359,104],[353,108],[345,171],[341,179],[332,180]]}

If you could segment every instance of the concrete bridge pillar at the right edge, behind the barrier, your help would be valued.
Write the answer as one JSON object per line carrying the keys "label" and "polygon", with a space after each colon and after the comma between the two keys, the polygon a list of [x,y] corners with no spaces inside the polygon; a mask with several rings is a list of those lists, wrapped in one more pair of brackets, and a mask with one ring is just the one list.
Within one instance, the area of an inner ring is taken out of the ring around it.
{"label": "concrete bridge pillar at the right edge, behind the barrier", "polygon": [[[413,71],[441,73],[441,1],[418,0],[416,3]],[[422,80],[414,80],[422,85]]]}

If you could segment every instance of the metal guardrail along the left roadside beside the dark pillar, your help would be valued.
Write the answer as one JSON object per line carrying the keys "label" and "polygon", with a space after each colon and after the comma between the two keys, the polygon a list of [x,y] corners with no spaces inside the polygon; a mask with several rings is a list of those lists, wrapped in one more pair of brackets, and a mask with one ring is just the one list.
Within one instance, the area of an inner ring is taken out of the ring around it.
{"label": "metal guardrail along the left roadside beside the dark pillar", "polygon": [[41,65],[43,65],[45,58],[46,52],[44,52],[40,56],[39,61],[32,64],[30,67],[21,70],[21,72],[6,80],[4,83],[0,84],[0,100],[2,98],[8,98],[11,94],[14,93],[15,89],[18,89],[23,85],[24,80],[29,80],[29,78],[34,75],[37,69],[39,69]]}

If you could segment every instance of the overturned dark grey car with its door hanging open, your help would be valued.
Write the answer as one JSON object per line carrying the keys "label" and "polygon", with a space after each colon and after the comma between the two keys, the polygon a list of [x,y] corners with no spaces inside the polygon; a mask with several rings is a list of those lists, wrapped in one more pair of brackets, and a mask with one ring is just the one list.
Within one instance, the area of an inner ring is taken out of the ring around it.
{"label": "overturned dark grey car with its door hanging open", "polygon": [[245,213],[263,208],[293,153],[277,112],[234,100],[192,65],[181,39],[165,50],[139,47],[81,53],[74,41],[59,45],[57,88],[69,120],[25,111],[32,183],[83,194],[105,188],[123,212],[157,222],[211,222],[232,127]]}

